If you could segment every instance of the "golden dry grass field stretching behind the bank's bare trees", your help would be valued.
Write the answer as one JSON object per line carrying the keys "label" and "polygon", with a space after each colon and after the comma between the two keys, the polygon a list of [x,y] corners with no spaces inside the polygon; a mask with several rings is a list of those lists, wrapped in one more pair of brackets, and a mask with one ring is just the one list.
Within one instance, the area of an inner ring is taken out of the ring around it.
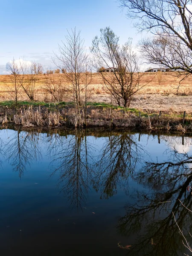
{"label": "golden dry grass field stretching behind the bank's bare trees", "polygon": [[[54,74],[59,76],[61,74]],[[46,76],[38,75],[35,89],[35,100],[52,101],[49,93],[42,88]],[[148,113],[164,111],[165,113],[192,113],[192,76],[186,78],[180,84],[178,95],[177,87],[181,78],[177,78],[177,73],[144,73],[140,85],[146,84],[131,102],[131,108],[137,108]],[[10,84],[9,75],[0,76],[0,101],[11,99],[8,85]],[[89,85],[91,102],[111,102],[111,97],[105,92],[99,73],[93,74],[93,81]],[[28,100],[23,95],[22,100]],[[63,97],[62,100],[66,100]],[[115,104],[115,102],[113,102]]]}

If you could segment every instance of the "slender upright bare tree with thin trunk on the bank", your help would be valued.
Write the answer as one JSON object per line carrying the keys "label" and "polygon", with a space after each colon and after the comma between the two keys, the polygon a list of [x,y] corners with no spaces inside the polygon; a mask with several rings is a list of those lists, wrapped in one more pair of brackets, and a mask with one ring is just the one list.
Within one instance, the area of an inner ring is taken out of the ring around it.
{"label": "slender upright bare tree with thin trunk on the bank", "polygon": [[[55,54],[53,59],[54,63],[61,70],[64,70],[64,77],[69,91],[73,97],[73,102],[76,110],[76,118],[79,125],[83,124],[81,119],[81,96],[84,90],[87,88],[88,77],[84,81],[84,73],[88,71],[87,61],[88,55],[84,47],[84,39],[81,38],[81,31],[76,32],[76,28],[71,30],[71,33],[67,31],[65,39],[62,44],[58,46],[59,54]],[[88,73],[87,73],[88,74]]]}

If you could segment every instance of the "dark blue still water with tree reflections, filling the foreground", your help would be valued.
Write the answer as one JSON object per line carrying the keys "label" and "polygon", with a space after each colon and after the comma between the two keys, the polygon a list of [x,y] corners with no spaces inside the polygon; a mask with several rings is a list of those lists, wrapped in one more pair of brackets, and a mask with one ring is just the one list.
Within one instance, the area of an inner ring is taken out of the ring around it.
{"label": "dark blue still water with tree reflections, filling the foreground", "polygon": [[191,168],[190,137],[1,130],[0,256],[190,255]]}

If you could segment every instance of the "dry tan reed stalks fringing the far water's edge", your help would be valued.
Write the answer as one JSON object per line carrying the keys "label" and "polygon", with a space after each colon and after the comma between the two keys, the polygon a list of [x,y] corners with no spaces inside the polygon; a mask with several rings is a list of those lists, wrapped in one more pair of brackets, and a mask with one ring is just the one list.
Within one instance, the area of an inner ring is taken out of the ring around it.
{"label": "dry tan reed stalks fringing the far water's edge", "polygon": [[[27,108],[18,111],[17,115],[10,116],[5,115],[0,117],[0,123],[14,122],[15,125],[23,125],[25,127],[31,126],[61,126],[61,125],[73,125],[74,127],[84,125],[84,112],[81,109],[81,116],[76,116],[75,109],[73,107],[67,107],[64,109],[53,111],[47,110],[47,108]],[[9,120],[9,121],[8,121]],[[149,126],[149,121],[151,127]],[[111,121],[111,113],[109,114],[109,108],[95,108],[93,106],[87,106],[86,110],[86,122],[87,126],[113,126],[113,127],[125,127],[125,128],[141,128],[151,130],[167,130],[175,131],[192,131],[192,120],[188,120],[188,125],[183,125],[182,120],[179,117],[167,117],[161,115],[159,120],[159,114],[154,117],[135,116],[132,113],[122,111],[119,109],[113,109],[113,122]]]}

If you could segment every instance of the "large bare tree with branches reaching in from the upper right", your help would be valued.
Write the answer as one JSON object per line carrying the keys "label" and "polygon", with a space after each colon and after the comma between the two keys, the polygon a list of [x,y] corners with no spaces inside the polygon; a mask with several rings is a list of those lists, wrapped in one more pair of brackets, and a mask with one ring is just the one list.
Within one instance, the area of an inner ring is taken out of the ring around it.
{"label": "large bare tree with branches reaching in from the upper right", "polygon": [[192,9],[191,0],[119,0],[128,9],[135,26],[150,31],[154,37],[140,42],[148,63],[170,70],[192,73]]}

